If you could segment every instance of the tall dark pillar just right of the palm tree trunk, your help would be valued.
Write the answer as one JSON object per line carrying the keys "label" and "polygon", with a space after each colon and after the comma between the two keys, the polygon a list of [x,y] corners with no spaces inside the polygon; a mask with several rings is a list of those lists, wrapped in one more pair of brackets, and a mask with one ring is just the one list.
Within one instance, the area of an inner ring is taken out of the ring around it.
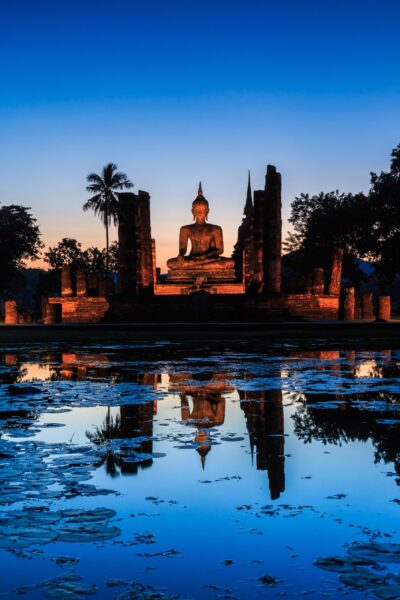
{"label": "tall dark pillar just right of the palm tree trunk", "polygon": [[[130,192],[119,194],[118,212],[118,291],[136,296],[138,248],[136,227],[137,196]],[[100,295],[100,294],[99,294]]]}

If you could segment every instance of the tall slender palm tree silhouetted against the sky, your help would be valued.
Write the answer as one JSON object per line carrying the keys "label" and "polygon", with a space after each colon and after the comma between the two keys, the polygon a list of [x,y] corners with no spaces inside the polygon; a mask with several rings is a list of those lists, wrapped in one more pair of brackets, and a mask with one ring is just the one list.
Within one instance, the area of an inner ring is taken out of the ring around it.
{"label": "tall slender palm tree silhouetted against the sky", "polygon": [[90,173],[87,176],[89,183],[86,190],[94,194],[85,204],[83,210],[93,210],[95,215],[100,215],[106,228],[106,270],[108,271],[108,228],[111,221],[114,225],[118,222],[118,192],[117,190],[129,189],[133,183],[125,173],[117,170],[114,163],[103,167],[102,175]]}

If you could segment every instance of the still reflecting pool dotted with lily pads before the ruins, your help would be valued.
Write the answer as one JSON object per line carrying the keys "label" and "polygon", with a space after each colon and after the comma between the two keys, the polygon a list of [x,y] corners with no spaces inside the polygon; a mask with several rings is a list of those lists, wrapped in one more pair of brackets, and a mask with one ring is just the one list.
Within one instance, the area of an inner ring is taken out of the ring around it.
{"label": "still reflecting pool dotted with lily pads before the ruins", "polygon": [[400,350],[0,347],[0,598],[400,598]]}

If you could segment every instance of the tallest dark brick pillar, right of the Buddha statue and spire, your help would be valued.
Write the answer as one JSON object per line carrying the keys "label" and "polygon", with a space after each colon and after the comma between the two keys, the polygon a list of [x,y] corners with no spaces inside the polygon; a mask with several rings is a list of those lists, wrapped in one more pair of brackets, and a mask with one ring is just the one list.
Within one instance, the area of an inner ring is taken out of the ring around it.
{"label": "tallest dark brick pillar, right of the Buddha statue and spire", "polygon": [[267,166],[264,191],[264,292],[280,294],[282,283],[281,174]]}

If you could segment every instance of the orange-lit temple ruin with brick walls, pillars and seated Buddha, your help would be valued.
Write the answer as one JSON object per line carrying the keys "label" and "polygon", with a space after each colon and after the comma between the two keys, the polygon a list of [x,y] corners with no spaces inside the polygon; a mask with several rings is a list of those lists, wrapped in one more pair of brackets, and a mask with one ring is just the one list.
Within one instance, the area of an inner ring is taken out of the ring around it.
{"label": "orange-lit temple ruin with brick walls, pillars and seated Buddha", "polygon": [[[342,250],[332,249],[328,271],[315,268],[301,285],[291,280],[284,286],[281,187],[272,165],[264,188],[254,193],[249,174],[237,242],[232,256],[224,257],[222,228],[208,222],[209,203],[200,184],[192,202],[194,223],[181,227],[178,255],[169,259],[164,276],[156,267],[150,195],[119,194],[116,281],[65,267],[61,297],[48,299],[45,322],[338,319]],[[345,305],[346,314],[354,314],[350,291]],[[367,305],[364,298],[365,312]],[[381,314],[387,316],[387,307]]]}

